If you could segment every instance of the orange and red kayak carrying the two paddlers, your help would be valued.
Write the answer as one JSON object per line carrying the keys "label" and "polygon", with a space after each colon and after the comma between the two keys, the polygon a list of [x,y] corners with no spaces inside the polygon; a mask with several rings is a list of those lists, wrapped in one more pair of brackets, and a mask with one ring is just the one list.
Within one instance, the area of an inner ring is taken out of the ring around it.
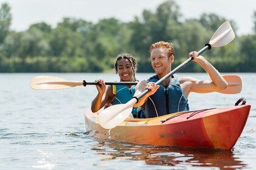
{"label": "orange and red kayak carrying the two paddlers", "polygon": [[127,118],[104,129],[88,108],[85,127],[94,137],[155,146],[232,149],[243,132],[250,104],[177,112],[155,118]]}

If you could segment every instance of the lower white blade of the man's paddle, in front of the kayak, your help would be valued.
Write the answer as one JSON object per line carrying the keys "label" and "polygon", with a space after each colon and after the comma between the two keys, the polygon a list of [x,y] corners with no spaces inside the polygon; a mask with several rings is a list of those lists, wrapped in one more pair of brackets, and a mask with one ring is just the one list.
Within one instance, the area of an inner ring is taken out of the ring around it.
{"label": "lower white blade of the man's paddle, in front of the kayak", "polygon": [[126,120],[127,117],[132,113],[133,104],[137,100],[133,98],[126,104],[116,104],[104,109],[98,115],[98,123],[105,129],[112,129],[113,127],[118,126]]}

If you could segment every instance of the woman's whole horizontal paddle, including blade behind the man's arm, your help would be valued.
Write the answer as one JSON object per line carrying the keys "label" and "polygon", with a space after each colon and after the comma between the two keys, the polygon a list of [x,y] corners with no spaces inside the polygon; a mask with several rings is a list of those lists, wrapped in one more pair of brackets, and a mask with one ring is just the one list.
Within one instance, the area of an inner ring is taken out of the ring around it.
{"label": "woman's whole horizontal paddle, including blade behind the man's arm", "polygon": [[[242,81],[237,75],[224,75],[228,86],[225,90],[219,91],[222,94],[238,94],[241,92]],[[136,85],[138,82],[121,81],[121,82],[105,82],[106,85]],[[76,86],[96,85],[97,82],[68,81],[63,78],[53,76],[40,76],[32,78],[30,87],[35,90],[59,90],[68,89]]]}

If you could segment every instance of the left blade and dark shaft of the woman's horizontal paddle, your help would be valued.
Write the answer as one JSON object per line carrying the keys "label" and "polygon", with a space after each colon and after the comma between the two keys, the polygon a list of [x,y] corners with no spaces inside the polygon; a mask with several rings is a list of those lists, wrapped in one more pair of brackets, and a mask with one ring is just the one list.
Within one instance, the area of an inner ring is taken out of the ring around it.
{"label": "left blade and dark shaft of the woman's horizontal paddle", "polygon": [[[105,82],[106,85],[136,85],[138,82],[120,81],[120,82]],[[59,90],[68,89],[76,86],[96,85],[97,82],[83,81],[68,81],[63,78],[53,76],[34,77],[30,81],[30,87],[35,90]]]}

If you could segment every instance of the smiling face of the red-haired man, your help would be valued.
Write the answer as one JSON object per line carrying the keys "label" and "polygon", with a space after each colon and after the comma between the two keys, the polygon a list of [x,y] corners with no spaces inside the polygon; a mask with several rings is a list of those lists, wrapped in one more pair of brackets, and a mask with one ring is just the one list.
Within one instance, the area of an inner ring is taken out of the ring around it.
{"label": "smiling face of the red-haired man", "polygon": [[173,61],[174,56],[168,57],[168,50],[165,47],[158,47],[151,51],[151,65],[158,78],[162,78],[171,72]]}

